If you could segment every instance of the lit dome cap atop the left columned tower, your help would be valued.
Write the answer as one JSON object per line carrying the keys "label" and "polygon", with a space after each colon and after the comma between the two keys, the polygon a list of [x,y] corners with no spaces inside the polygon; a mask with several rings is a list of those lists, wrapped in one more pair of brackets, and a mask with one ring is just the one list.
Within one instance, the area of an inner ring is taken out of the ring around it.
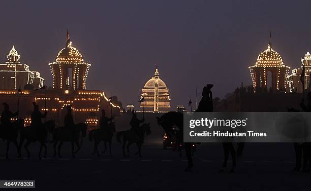
{"label": "lit dome cap atop the left columned tower", "polygon": [[59,51],[56,61],[83,62],[83,58],[78,49],[73,47],[72,42],[70,42],[66,48],[63,48]]}

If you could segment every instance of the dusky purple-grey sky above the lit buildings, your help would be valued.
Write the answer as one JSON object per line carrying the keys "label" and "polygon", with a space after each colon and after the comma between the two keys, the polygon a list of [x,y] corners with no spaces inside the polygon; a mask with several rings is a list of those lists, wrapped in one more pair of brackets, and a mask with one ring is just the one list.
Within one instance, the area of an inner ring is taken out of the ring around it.
{"label": "dusky purple-grey sky above the lit buildings", "polygon": [[159,65],[171,106],[199,99],[204,85],[223,98],[268,47],[291,68],[311,52],[308,1],[2,1],[0,61],[12,45],[20,61],[52,85],[48,63],[71,41],[92,63],[87,89],[138,105],[141,89]]}

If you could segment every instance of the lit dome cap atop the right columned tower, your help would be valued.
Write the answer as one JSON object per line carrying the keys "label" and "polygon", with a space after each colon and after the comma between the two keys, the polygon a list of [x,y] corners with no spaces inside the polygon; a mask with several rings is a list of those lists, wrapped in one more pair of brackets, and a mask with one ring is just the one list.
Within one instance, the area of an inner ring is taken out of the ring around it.
{"label": "lit dome cap atop the right columned tower", "polygon": [[259,54],[255,65],[274,66],[284,65],[284,63],[281,55],[274,51],[269,44],[268,49]]}

